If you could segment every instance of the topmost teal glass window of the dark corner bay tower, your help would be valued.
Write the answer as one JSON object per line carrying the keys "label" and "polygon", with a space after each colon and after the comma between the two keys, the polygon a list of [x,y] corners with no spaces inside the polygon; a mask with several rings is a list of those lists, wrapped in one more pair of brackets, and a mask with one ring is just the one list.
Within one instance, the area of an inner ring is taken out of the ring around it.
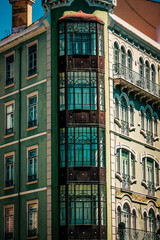
{"label": "topmost teal glass window of the dark corner bay tower", "polygon": [[[103,40],[101,41],[103,43]],[[102,49],[102,44],[99,45]],[[96,55],[96,23],[67,23],[67,54]]]}

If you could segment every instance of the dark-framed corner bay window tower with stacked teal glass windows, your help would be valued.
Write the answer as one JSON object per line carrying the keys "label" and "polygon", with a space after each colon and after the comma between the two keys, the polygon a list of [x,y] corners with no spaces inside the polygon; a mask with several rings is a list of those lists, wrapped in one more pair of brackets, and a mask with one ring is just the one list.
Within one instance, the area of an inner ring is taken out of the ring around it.
{"label": "dark-framed corner bay window tower with stacked teal glass windows", "polygon": [[106,239],[104,22],[58,21],[60,239]]}

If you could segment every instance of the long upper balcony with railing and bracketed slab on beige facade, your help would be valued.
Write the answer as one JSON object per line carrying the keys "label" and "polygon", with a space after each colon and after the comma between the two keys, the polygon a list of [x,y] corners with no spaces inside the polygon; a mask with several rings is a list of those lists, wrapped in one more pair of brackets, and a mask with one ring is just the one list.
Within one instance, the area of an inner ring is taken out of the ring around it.
{"label": "long upper balcony with railing and bracketed slab on beige facade", "polygon": [[114,86],[121,85],[142,98],[160,103],[160,85],[120,63],[113,65]]}

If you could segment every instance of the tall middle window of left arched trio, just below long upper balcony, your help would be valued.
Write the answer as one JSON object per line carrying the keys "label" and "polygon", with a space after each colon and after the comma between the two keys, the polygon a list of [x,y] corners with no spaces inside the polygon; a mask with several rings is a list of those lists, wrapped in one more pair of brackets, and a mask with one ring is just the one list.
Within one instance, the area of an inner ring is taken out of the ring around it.
{"label": "tall middle window of left arched trio, just below long upper balcony", "polygon": [[121,123],[121,132],[125,135],[128,135],[128,106],[124,97],[121,99]]}

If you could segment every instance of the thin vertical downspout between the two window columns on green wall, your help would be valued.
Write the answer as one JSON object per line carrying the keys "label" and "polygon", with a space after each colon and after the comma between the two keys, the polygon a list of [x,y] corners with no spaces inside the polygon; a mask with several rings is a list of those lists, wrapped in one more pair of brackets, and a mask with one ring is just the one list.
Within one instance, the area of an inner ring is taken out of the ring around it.
{"label": "thin vertical downspout between the two window columns on green wall", "polygon": [[22,47],[18,49],[19,51],[19,145],[18,145],[18,153],[19,153],[19,158],[18,158],[18,228],[19,228],[19,234],[18,234],[18,239],[21,239],[21,199],[20,199],[20,192],[21,192],[21,74],[22,74]]}

